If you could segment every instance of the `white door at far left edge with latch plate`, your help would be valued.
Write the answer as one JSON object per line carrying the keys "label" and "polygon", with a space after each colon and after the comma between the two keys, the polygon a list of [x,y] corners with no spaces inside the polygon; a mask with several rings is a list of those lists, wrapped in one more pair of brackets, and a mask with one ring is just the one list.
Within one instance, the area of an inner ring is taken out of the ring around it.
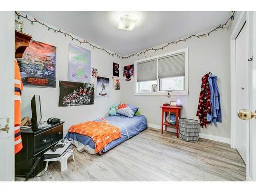
{"label": "white door at far left edge with latch plate", "polygon": [[14,180],[14,11],[0,11],[0,181]]}

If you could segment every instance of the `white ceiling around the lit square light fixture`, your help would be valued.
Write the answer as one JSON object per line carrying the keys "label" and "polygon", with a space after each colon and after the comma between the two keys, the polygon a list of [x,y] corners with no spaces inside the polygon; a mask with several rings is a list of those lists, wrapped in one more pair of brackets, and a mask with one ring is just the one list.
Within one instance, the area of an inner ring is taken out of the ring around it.
{"label": "white ceiling around the lit square light fixture", "polygon": [[[21,11],[122,56],[223,24],[228,11]],[[117,29],[120,16],[138,19]]]}

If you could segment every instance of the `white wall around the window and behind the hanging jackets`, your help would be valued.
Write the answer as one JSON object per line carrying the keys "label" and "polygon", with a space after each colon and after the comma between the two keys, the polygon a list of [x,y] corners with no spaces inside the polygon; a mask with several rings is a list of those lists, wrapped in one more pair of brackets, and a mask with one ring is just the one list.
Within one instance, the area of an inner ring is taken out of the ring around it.
{"label": "white wall around the window and behind the hanging jackets", "polygon": [[[208,31],[208,30],[207,30]],[[199,33],[201,34],[201,33]],[[218,76],[218,86],[221,97],[222,123],[218,126],[208,125],[207,129],[200,129],[201,135],[207,138],[229,142],[230,138],[230,45],[229,30],[219,30],[208,37],[193,38],[186,42],[171,45],[161,51],[148,52],[145,55],[131,57],[122,61],[122,65],[134,64],[135,60],[163,54],[183,48],[188,48],[189,95],[174,95],[172,100],[181,99],[183,109],[181,117],[197,119],[197,107],[201,90],[201,78],[209,71]],[[155,46],[156,47],[156,46]],[[134,82],[121,81],[122,102],[139,107],[141,114],[147,117],[148,123],[161,124],[160,106],[169,102],[167,96],[162,95],[134,95]],[[166,94],[167,95],[167,94]]]}

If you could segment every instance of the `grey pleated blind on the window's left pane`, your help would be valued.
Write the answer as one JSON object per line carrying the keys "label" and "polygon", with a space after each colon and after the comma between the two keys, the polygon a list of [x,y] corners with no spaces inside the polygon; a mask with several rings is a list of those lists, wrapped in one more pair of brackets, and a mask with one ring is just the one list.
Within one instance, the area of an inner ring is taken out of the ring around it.
{"label": "grey pleated blind on the window's left pane", "polygon": [[157,59],[137,64],[137,82],[157,80]]}

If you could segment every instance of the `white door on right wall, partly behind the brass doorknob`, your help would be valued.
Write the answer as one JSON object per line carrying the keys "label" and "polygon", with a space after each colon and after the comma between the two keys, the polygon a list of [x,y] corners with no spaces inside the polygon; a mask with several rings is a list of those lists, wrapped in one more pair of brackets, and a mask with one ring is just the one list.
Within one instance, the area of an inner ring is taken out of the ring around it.
{"label": "white door on right wall, partly behind the brass doorknob", "polygon": [[[236,78],[237,78],[237,111],[249,109],[249,86],[248,66],[246,49],[246,23],[236,38]],[[249,129],[249,122],[237,118],[236,125],[236,148],[246,162],[246,129]]]}

